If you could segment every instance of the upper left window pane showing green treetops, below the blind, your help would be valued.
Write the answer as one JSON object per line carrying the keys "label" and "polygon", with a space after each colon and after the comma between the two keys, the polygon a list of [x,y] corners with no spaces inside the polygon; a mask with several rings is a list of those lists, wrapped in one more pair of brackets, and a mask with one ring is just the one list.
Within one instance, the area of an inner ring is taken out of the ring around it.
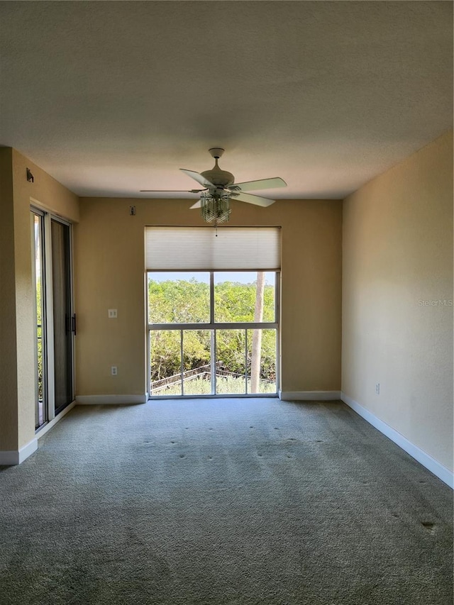
{"label": "upper left window pane showing green treetops, below the blind", "polygon": [[209,284],[209,273],[148,273],[148,322],[209,323]]}

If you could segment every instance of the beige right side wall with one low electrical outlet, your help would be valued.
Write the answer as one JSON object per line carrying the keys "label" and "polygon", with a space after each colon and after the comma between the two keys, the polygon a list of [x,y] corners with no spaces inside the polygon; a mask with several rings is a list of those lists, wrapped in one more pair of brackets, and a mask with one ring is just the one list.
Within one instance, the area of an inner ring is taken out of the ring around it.
{"label": "beige right side wall with one low electrical outlet", "polygon": [[450,131],[345,199],[342,318],[343,392],[450,470],[452,301]]}

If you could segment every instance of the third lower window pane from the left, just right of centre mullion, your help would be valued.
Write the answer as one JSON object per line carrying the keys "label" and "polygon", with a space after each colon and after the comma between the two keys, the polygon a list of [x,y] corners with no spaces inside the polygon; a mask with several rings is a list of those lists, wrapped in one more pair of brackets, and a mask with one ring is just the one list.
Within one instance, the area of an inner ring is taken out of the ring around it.
{"label": "third lower window pane from the left, just right of centre mullion", "polygon": [[216,394],[245,394],[245,330],[216,330]]}

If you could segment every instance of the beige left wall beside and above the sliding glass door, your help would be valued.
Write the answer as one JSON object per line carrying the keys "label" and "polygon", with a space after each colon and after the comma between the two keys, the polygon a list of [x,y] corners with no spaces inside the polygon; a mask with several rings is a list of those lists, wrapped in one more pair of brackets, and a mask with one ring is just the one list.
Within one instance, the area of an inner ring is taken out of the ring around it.
{"label": "beige left wall beside and above the sliding glass door", "polygon": [[[28,183],[26,168],[34,182]],[[18,450],[35,436],[35,347],[30,206],[35,204],[77,221],[79,199],[11,148],[0,149],[1,341],[6,374],[0,383],[0,450]],[[6,287],[3,287],[5,279]]]}

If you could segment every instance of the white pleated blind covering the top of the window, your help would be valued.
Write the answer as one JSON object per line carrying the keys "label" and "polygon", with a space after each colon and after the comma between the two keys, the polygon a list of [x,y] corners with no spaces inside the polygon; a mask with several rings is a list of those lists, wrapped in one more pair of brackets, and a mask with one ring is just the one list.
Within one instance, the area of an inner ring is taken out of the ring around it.
{"label": "white pleated blind covering the top of the window", "polygon": [[146,269],[279,270],[280,232],[279,227],[146,227]]}

